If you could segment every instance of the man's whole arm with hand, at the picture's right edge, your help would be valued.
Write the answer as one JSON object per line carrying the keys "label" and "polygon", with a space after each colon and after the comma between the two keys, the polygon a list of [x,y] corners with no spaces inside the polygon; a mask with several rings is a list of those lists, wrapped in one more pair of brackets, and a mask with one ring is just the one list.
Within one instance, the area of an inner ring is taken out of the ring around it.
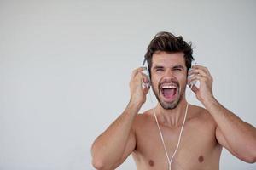
{"label": "man's whole arm with hand, at the picture's right edge", "polygon": [[207,68],[195,65],[193,80],[199,80],[200,88],[192,87],[197,99],[205,106],[217,123],[216,138],[234,156],[242,161],[256,161],[256,128],[243,122],[238,116],[219,104],[212,95],[212,77]]}

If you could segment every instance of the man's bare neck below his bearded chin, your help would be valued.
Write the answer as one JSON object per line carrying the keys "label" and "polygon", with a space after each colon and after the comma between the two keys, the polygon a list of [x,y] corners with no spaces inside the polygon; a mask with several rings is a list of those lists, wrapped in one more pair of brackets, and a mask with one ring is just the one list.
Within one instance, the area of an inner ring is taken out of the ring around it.
{"label": "man's bare neck below his bearded chin", "polygon": [[160,124],[167,127],[178,127],[183,123],[183,118],[185,116],[187,101],[183,98],[177,107],[172,110],[166,110],[162,108],[160,103],[156,106],[156,116]]}

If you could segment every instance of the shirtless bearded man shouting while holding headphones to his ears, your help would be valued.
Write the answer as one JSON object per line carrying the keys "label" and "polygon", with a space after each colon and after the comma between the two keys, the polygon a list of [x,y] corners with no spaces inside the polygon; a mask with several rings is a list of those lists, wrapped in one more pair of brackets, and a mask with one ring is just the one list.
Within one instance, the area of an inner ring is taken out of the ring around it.
{"label": "shirtless bearded man shouting while holding headphones to his ears", "polygon": [[212,94],[212,77],[206,67],[195,65],[189,71],[193,60],[190,43],[169,32],[160,32],[148,45],[145,59],[158,104],[154,109],[137,114],[148,94],[142,82],[149,81],[144,68],[137,68],[131,74],[131,99],[125,111],[92,145],[92,164],[96,169],[115,169],[132,154],[137,170],[167,170],[169,161],[160,131],[171,158],[188,104],[186,85],[195,80],[200,82],[200,88],[192,86],[191,89],[205,109],[188,105],[172,170],[218,170],[222,147],[242,161],[256,161],[255,127],[218,103]]}

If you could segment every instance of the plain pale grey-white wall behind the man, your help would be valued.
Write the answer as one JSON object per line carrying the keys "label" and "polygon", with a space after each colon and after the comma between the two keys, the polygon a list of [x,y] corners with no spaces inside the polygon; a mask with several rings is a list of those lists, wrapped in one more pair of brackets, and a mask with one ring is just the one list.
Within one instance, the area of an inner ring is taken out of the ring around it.
{"label": "plain pale grey-white wall behind the man", "polygon": [[[0,169],[85,170],[149,41],[192,41],[215,97],[256,125],[255,1],[1,1]],[[195,96],[192,104],[201,105]],[[152,107],[148,102],[142,111]],[[226,150],[220,169],[256,169]],[[136,169],[131,157],[119,169]]]}

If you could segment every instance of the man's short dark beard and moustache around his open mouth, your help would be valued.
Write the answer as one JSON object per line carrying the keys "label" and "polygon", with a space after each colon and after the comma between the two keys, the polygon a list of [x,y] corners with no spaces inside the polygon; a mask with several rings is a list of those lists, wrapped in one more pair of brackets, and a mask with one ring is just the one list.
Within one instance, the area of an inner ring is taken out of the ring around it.
{"label": "man's short dark beard and moustache around his open mouth", "polygon": [[164,101],[164,99],[161,99],[160,95],[161,94],[161,89],[160,89],[160,86],[162,83],[160,83],[158,85],[158,88],[154,88],[153,84],[152,84],[152,89],[153,89],[153,92],[154,92],[154,95],[156,97],[156,99],[158,100],[158,102],[160,103],[160,105],[162,106],[162,108],[166,109],[166,110],[172,110],[172,109],[175,109],[177,107],[177,105],[180,103],[181,99],[183,99],[183,94],[184,94],[184,91],[185,91],[185,86],[183,88],[180,88],[180,85],[177,81],[171,81],[172,83],[176,83],[177,84],[177,98],[174,99],[172,102],[166,102]]}

